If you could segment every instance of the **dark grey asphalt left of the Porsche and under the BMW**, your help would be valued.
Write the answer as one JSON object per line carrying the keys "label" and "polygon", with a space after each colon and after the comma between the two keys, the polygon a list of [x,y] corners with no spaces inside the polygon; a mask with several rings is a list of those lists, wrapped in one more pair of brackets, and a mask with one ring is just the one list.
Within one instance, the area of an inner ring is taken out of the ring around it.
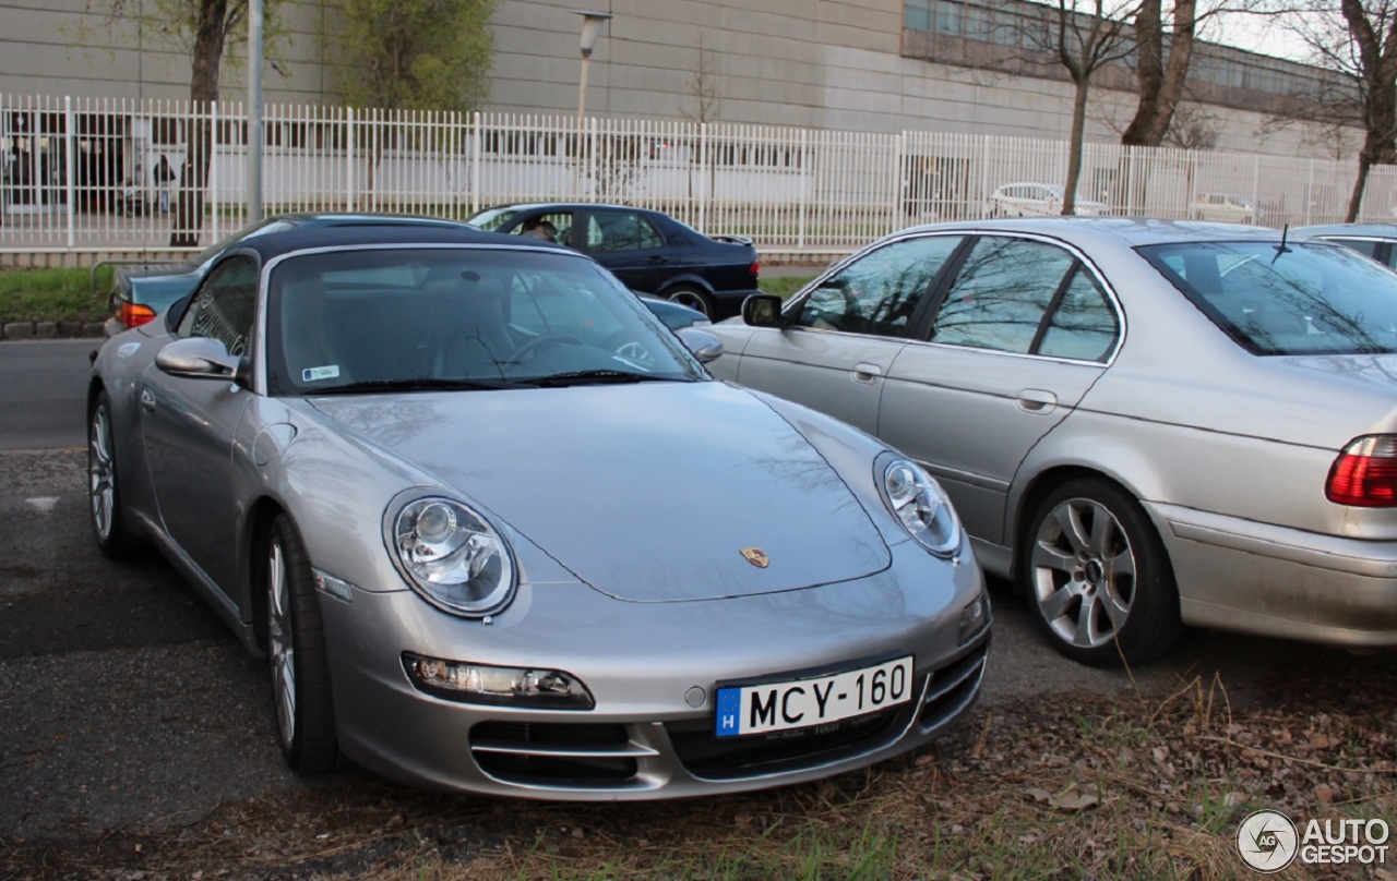
{"label": "dark grey asphalt left of the Porsche and under the BMW", "polygon": [[[34,362],[21,383],[10,371],[17,355]],[[286,771],[264,662],[158,558],[113,563],[98,553],[81,383],[73,390],[39,366],[66,374],[73,355],[81,357],[81,346],[0,345],[0,838],[180,825],[219,804],[305,786],[379,785],[359,773],[309,783]],[[49,388],[59,390],[50,406],[36,409],[32,397]],[[38,410],[49,412],[46,437],[57,448],[15,450],[32,437],[15,413]],[[1168,660],[1132,674],[1090,669],[1048,648],[1007,586],[990,592],[990,704],[1077,690],[1160,698],[1217,677],[1235,705],[1289,676],[1354,663],[1333,649],[1194,632]],[[1397,656],[1362,663],[1394,669]]]}

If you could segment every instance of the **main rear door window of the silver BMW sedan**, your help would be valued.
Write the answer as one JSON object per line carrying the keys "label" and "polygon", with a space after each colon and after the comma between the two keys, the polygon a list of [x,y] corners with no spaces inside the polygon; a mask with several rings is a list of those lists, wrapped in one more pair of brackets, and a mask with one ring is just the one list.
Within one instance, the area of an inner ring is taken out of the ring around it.
{"label": "main rear door window of the silver BMW sedan", "polygon": [[936,314],[932,342],[1031,352],[1074,261],[1067,251],[1042,242],[981,239]]}

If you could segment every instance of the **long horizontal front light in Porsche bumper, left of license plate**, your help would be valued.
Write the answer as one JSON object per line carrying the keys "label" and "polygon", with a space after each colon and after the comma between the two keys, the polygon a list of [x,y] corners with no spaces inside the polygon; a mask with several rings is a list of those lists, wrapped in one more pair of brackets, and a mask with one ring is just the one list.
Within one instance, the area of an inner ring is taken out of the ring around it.
{"label": "long horizontal front light in Porsche bumper, left of license plate", "polygon": [[462,704],[528,706],[536,709],[591,709],[597,706],[587,686],[571,673],[536,667],[492,667],[462,660],[443,660],[402,652],[402,667],[414,687]]}

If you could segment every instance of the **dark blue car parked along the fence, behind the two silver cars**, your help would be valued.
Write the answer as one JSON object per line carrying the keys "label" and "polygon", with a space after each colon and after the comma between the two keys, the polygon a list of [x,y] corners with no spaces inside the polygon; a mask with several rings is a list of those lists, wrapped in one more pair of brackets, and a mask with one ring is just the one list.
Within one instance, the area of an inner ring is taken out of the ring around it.
{"label": "dark blue car parked along the fence, behind the two silver cars", "polygon": [[557,202],[497,205],[467,222],[514,235],[538,236],[550,229],[549,240],[597,258],[633,290],[710,318],[735,314],[759,292],[761,264],[752,239],[710,237],[659,211]]}

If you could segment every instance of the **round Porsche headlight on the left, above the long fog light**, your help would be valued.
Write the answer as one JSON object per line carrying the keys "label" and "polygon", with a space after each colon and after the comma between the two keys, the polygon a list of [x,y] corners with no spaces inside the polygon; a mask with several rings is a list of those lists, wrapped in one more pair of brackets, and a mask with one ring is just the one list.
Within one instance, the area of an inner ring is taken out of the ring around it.
{"label": "round Porsche headlight on the left, above the long fog light", "polygon": [[504,538],[458,501],[418,498],[393,524],[398,563],[433,605],[464,616],[499,612],[514,596],[514,560]]}

